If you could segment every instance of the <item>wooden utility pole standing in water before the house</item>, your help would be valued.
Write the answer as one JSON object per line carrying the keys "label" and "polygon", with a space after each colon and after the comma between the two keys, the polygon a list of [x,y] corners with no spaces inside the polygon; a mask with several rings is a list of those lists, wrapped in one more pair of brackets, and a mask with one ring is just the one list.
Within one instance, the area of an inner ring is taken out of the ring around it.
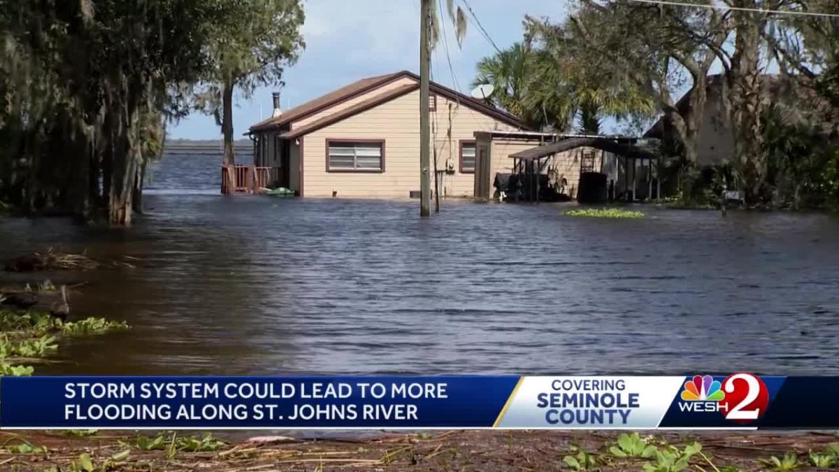
{"label": "wooden utility pole standing in water before the house", "polygon": [[429,29],[431,0],[420,0],[420,216],[431,216],[431,182],[429,179]]}

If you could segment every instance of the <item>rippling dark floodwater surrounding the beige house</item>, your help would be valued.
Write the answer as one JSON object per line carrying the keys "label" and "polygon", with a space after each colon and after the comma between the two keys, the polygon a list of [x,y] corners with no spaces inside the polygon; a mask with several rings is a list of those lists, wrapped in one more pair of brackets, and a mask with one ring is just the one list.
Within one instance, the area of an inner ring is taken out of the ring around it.
{"label": "rippling dark floodwater surrounding the beige house", "polygon": [[39,374],[839,374],[839,218],[444,201],[420,219],[409,200],[222,197],[218,161],[164,158],[127,231],[0,219],[3,259],[141,260],[43,275],[87,282],[71,316],[133,328],[62,343]]}

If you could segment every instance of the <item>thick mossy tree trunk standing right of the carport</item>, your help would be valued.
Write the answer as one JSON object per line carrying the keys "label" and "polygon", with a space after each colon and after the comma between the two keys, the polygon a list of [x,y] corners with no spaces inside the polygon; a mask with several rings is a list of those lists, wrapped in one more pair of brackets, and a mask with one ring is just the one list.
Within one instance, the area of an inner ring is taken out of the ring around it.
{"label": "thick mossy tree trunk standing right of the carport", "polygon": [[[760,8],[759,0],[738,0],[735,6]],[[763,87],[760,77],[760,42],[765,23],[763,13],[733,12],[736,18],[731,87],[734,154],[743,165],[745,197],[748,204],[760,199],[766,179],[763,153]]]}

